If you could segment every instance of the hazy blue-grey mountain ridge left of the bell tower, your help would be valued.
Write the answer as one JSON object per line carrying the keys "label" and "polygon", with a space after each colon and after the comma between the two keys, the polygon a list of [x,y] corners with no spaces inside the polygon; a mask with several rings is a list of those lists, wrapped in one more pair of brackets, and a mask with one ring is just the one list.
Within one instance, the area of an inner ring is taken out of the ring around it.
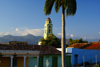
{"label": "hazy blue-grey mountain ridge left of the bell tower", "polygon": [[26,36],[12,36],[6,35],[0,37],[0,43],[9,43],[9,41],[27,41],[28,44],[38,44],[38,41],[43,38],[42,36],[34,36],[32,34],[28,34]]}

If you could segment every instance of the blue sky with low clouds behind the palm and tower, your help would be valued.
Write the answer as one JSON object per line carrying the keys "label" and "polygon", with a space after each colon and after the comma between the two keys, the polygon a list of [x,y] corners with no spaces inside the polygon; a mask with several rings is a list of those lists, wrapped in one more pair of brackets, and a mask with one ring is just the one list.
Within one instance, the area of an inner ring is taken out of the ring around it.
{"label": "blue sky with low clouds behind the palm and tower", "polygon": [[[74,16],[65,17],[66,38],[100,39],[100,0],[76,0]],[[54,6],[50,15],[44,14],[45,0],[0,0],[0,37],[4,35],[43,36],[48,17],[53,33],[61,37],[62,9],[56,13]]]}

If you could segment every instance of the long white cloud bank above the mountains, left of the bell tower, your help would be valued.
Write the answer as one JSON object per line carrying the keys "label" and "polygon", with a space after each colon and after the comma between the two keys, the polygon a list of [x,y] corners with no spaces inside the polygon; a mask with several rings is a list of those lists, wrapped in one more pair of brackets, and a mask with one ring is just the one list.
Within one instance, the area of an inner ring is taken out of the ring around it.
{"label": "long white cloud bank above the mountains, left of the bell tower", "polygon": [[11,32],[0,32],[0,36],[2,35],[14,35],[14,36],[24,36],[28,34],[32,34],[34,36],[43,36],[44,29],[28,29],[25,28],[16,28],[14,31]]}

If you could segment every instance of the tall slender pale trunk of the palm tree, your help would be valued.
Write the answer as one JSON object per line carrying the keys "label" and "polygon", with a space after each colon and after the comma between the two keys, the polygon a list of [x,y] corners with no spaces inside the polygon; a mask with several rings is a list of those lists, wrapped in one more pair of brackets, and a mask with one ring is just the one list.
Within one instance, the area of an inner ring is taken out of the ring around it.
{"label": "tall slender pale trunk of the palm tree", "polygon": [[66,67],[66,44],[65,44],[65,8],[62,5],[62,67]]}

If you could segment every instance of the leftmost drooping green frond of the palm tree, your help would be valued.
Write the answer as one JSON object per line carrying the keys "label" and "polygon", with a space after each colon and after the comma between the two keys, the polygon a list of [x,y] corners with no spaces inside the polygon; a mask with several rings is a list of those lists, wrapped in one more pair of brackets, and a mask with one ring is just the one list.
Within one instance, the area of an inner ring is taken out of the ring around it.
{"label": "leftmost drooping green frond of the palm tree", "polygon": [[44,6],[45,15],[49,15],[51,13],[54,2],[55,2],[55,0],[46,0],[45,1],[45,6]]}

